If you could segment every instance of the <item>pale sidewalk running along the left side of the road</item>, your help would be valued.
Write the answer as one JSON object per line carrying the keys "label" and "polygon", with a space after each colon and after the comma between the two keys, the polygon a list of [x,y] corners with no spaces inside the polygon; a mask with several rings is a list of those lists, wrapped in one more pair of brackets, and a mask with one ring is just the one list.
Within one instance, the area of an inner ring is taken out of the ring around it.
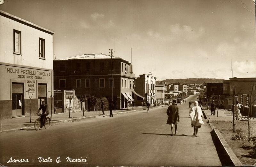
{"label": "pale sidewalk running along the left side of the road", "polygon": [[[161,107],[161,106],[158,106]],[[155,107],[152,107],[155,108]],[[113,110],[113,115],[119,115],[119,114],[126,114],[135,112],[138,110],[143,110],[143,107],[129,107],[129,109],[123,109],[122,110]],[[51,111],[50,111],[51,112]],[[100,114],[99,114],[100,113]],[[58,123],[66,123],[66,122],[74,122],[74,121],[84,121],[87,119],[93,119],[93,118],[102,118],[102,117],[109,117],[110,111],[106,110],[105,115],[102,115],[102,111],[89,111],[89,112],[75,112],[75,113],[59,113],[59,114],[52,114],[52,120],[51,125],[58,124]],[[47,117],[51,118],[51,115],[49,114]],[[0,133],[2,132],[11,132],[11,131],[19,131],[24,129],[34,129],[34,122],[35,120],[39,118],[39,116],[31,116],[31,122],[29,122],[29,116],[27,117],[17,117],[12,119],[5,119],[0,120]]]}

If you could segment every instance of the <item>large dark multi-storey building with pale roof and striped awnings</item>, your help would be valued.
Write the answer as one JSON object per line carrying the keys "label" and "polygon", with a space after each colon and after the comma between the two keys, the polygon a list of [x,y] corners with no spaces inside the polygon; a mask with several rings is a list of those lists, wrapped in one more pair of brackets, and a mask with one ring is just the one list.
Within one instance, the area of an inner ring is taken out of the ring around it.
{"label": "large dark multi-storey building with pale roof and striped awnings", "polygon": [[[131,62],[112,56],[113,102],[118,108],[132,103],[135,75]],[[83,54],[53,60],[54,90],[76,91],[76,97],[106,97],[111,100],[111,56]]]}

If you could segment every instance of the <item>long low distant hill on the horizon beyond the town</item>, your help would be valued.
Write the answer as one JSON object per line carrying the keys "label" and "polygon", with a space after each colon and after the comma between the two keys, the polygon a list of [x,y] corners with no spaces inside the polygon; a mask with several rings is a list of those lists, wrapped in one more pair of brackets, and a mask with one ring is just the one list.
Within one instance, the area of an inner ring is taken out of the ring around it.
{"label": "long low distant hill on the horizon beyond the town", "polygon": [[160,84],[161,82],[165,82],[166,84],[168,83],[188,83],[188,84],[203,84],[204,82],[206,83],[218,83],[218,82],[223,82],[225,79],[215,79],[215,78],[186,78],[186,79],[165,79],[163,81],[156,81],[156,84]]}

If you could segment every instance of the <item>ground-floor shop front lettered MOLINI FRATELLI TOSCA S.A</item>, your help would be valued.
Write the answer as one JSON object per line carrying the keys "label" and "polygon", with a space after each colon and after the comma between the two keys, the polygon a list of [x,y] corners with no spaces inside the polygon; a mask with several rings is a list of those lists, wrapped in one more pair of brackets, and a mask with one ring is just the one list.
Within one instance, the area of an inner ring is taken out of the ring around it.
{"label": "ground-floor shop front lettered MOLINI FRATELLI TOSCA S.A", "polygon": [[51,93],[53,95],[53,70],[0,64],[2,119],[29,115],[29,107],[31,115],[35,115],[42,101],[51,104]]}

